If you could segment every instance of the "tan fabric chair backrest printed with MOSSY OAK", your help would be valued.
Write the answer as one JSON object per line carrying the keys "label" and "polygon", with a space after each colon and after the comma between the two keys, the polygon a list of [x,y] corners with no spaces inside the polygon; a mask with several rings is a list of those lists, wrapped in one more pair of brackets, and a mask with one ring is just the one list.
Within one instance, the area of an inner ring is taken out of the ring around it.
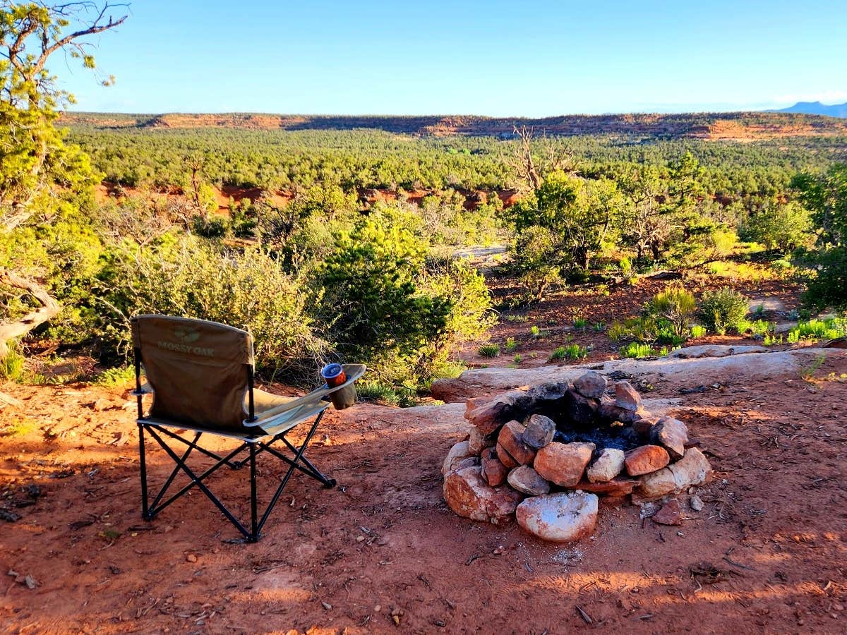
{"label": "tan fabric chair backrest printed with MOSSY OAK", "polygon": [[132,340],[153,389],[150,417],[212,430],[245,430],[252,335],[187,317],[133,317]]}

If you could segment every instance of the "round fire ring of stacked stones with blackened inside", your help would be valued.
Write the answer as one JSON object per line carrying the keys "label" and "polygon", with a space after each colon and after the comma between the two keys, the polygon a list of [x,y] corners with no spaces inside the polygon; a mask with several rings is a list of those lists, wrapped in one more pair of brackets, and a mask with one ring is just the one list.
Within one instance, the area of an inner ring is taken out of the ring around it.
{"label": "round fire ring of stacked stones with blackened inside", "polygon": [[653,417],[626,381],[614,398],[600,373],[570,382],[468,400],[468,439],[444,461],[452,511],[495,525],[512,516],[556,542],[584,538],[597,523],[599,496],[642,500],[706,482],[711,466],[686,425]]}

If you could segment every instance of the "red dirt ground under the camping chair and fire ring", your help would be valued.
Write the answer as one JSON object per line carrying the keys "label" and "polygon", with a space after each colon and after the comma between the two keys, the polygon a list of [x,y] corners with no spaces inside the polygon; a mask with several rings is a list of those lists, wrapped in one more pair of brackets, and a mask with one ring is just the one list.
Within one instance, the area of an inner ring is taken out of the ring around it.
{"label": "red dirt ground under the camping chair and fire ring", "polygon": [[[595,535],[573,545],[446,507],[440,463],[462,437],[461,405],[331,412],[310,456],[339,487],[297,475],[263,539],[228,544],[235,530],[200,494],[141,520],[125,390],[7,385],[22,406],[0,411],[0,493],[21,518],[2,523],[0,566],[21,582],[0,587],[0,630],[844,632],[844,372],[688,395],[679,416],[716,469],[703,511],[683,495],[683,525],[663,527],[602,505]],[[215,483],[238,500],[243,476]]]}

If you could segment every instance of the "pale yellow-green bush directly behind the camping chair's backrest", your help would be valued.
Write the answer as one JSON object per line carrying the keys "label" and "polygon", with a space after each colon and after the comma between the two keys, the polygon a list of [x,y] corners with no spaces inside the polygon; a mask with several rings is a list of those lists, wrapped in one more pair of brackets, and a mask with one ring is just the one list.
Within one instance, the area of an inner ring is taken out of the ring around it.
{"label": "pale yellow-green bush directly behind the camping chair's backrest", "polygon": [[130,346],[128,319],[164,313],[227,323],[250,331],[257,369],[268,379],[311,383],[327,344],[305,311],[300,281],[260,249],[220,250],[191,236],[165,236],[153,246],[109,251],[92,307],[97,337],[108,361]]}

